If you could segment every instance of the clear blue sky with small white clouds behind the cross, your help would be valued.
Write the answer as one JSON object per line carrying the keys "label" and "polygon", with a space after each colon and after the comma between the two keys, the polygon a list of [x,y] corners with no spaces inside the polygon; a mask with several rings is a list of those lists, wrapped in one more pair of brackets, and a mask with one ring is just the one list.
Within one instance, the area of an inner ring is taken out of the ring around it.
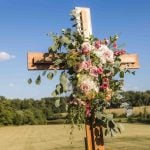
{"label": "clear blue sky with small white clouds behind the cross", "polygon": [[47,52],[49,32],[71,27],[70,11],[89,7],[93,35],[109,38],[118,34],[129,53],[139,55],[140,69],[127,75],[125,90],[150,90],[149,0],[0,0],[0,96],[35,98],[51,96],[58,76],[29,85],[40,71],[28,71],[27,52]]}

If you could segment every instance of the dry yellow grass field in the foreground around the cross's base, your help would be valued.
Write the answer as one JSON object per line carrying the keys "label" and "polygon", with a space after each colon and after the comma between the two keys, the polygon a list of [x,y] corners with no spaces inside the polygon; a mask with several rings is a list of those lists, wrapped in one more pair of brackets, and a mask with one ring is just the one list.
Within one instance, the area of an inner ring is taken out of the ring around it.
{"label": "dry yellow grass field in the foreground around the cross's base", "polygon": [[[105,137],[106,150],[150,150],[150,125],[124,124],[117,137]],[[0,150],[84,150],[84,126],[75,130],[73,144],[64,125],[0,128]]]}

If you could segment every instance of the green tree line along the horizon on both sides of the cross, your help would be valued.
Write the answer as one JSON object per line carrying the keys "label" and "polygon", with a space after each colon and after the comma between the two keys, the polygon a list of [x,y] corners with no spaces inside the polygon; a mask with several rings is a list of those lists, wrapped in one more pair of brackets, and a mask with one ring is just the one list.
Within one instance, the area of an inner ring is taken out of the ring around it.
{"label": "green tree line along the horizon on both sides of the cross", "polygon": [[[126,91],[121,101],[112,101],[110,108],[118,108],[127,102],[131,106],[150,105],[150,91]],[[0,96],[0,125],[46,124],[67,112],[66,97],[35,99],[8,99]]]}

